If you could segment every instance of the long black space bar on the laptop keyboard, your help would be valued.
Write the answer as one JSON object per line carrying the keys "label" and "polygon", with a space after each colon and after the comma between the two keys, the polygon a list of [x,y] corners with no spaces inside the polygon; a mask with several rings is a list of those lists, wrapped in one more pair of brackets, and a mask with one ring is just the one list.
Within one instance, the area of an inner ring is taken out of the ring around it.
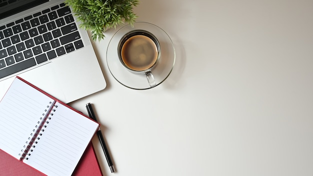
{"label": "long black space bar on the laptop keyboard", "polygon": [[0,78],[16,73],[18,71],[21,71],[23,69],[29,68],[34,65],[36,65],[35,59],[30,58],[30,59],[26,59],[24,61],[18,62],[16,64],[13,64],[11,66],[7,66],[3,69],[0,69]]}

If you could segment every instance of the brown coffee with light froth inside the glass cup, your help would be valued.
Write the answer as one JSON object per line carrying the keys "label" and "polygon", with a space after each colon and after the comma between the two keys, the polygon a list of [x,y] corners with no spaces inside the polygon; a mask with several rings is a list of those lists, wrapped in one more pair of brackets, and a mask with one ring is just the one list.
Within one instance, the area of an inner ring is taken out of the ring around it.
{"label": "brown coffee with light froth inside the glass cup", "polygon": [[143,71],[149,69],[156,62],[158,49],[154,41],[145,35],[129,37],[122,45],[121,59],[132,70]]}

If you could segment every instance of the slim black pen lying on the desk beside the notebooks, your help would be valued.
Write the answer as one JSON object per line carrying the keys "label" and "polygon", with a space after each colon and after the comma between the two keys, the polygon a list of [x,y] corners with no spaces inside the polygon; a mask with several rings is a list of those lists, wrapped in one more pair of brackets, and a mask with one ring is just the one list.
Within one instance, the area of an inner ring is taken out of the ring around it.
{"label": "slim black pen lying on the desk beside the notebooks", "polygon": [[[90,102],[88,102],[88,103],[86,104],[86,108],[87,108],[89,117],[92,118],[94,121],[97,121],[97,120],[96,120],[96,117],[95,117],[95,114],[94,114],[94,112],[93,112],[93,109],[92,109],[92,107],[91,107]],[[99,138],[99,140],[100,140],[100,143],[101,143],[101,146],[102,146],[102,149],[103,149],[103,152],[104,152],[106,161],[107,161],[107,163],[108,163],[108,166],[110,167],[111,173],[113,173],[113,172],[115,172],[115,169],[114,169],[114,166],[113,166],[111,157],[110,157],[110,155],[109,155],[109,153],[108,153],[108,151],[107,151],[107,148],[106,148],[106,145],[105,145],[104,138],[103,138],[103,136],[102,136],[100,127],[98,128],[98,131],[96,131],[96,134],[98,135],[98,138]]]}

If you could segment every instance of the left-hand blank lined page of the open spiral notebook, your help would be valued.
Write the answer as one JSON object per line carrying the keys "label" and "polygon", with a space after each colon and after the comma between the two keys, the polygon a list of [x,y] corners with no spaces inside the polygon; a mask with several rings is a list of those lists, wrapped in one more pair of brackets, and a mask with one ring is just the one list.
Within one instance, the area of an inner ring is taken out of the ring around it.
{"label": "left-hand blank lined page of the open spiral notebook", "polygon": [[0,101],[0,148],[19,159],[50,101],[50,97],[15,78]]}

